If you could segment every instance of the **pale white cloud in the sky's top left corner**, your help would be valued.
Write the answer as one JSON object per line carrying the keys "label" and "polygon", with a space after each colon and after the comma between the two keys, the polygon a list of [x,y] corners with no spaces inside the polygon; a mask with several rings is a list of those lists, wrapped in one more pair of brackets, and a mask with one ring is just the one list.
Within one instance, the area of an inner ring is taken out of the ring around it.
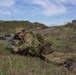
{"label": "pale white cloud in the sky's top left corner", "polygon": [[14,0],[0,0],[0,14],[11,14],[11,8],[15,4]]}

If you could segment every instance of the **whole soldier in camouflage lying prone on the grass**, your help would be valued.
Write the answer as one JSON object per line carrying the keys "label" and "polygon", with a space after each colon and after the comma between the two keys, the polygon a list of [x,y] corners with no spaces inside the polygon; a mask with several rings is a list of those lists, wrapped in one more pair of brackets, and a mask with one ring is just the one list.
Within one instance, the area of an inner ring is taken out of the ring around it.
{"label": "whole soldier in camouflage lying prone on the grass", "polygon": [[61,53],[55,52],[51,48],[51,43],[43,39],[39,34],[35,35],[32,32],[25,32],[25,29],[18,27],[15,29],[15,34],[18,35],[22,45],[17,43],[12,47],[15,53],[25,53],[32,56],[39,56],[45,58],[54,64],[62,65],[65,59],[76,58],[75,53]]}

